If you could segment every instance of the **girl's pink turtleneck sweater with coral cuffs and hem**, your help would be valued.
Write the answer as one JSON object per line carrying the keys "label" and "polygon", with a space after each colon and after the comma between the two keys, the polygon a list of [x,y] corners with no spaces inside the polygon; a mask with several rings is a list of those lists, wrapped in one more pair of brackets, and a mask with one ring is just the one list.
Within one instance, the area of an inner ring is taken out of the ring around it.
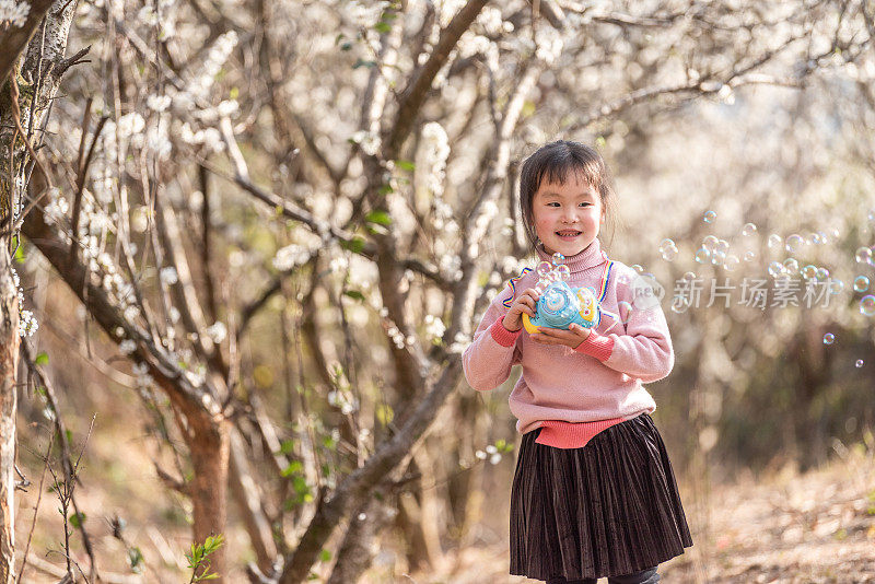
{"label": "girl's pink turtleneck sweater with coral cuffs and hem", "polygon": [[[540,245],[538,255],[550,259]],[[598,290],[607,260],[598,240],[567,258],[569,285]],[[526,273],[515,292],[506,285],[492,300],[462,355],[468,384],[479,392],[494,389],[510,377],[513,365],[521,364],[523,374],[509,399],[516,430],[525,434],[544,427],[537,442],[560,448],[581,447],[615,423],[652,412],[656,404],[641,384],[667,376],[675,355],[660,305],[633,304],[632,283],[638,276],[615,261],[602,306],[627,322],[615,325],[614,318],[603,315],[599,326],[576,349],[537,343],[525,329],[504,328],[508,308],[503,302],[534,288],[538,277],[534,271]]]}

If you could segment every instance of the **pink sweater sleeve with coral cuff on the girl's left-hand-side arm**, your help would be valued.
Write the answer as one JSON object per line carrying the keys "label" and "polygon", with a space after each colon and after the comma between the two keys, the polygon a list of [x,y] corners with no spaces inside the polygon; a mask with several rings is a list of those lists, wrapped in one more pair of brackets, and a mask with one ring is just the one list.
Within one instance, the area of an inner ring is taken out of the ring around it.
{"label": "pink sweater sleeve with coral cuff on the girl's left-hand-side arm", "polygon": [[489,392],[503,384],[511,376],[511,367],[521,361],[516,340],[523,329],[504,328],[502,320],[506,312],[497,296],[474,332],[471,343],[462,353],[465,378],[478,392]]}

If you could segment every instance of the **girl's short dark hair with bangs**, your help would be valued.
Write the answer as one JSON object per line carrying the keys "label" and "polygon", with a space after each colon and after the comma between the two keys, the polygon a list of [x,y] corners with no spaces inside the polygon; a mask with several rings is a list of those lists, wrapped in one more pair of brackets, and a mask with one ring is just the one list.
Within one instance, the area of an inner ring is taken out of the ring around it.
{"label": "girl's short dark hair with bangs", "polygon": [[614,190],[614,178],[605,160],[595,149],[586,144],[557,140],[544,144],[528,156],[520,172],[520,211],[532,252],[535,252],[538,242],[532,213],[535,192],[544,180],[564,185],[569,179],[569,173],[574,173],[579,180],[598,191],[602,208],[605,210],[605,222],[610,229],[609,242],[614,240],[617,195]]}

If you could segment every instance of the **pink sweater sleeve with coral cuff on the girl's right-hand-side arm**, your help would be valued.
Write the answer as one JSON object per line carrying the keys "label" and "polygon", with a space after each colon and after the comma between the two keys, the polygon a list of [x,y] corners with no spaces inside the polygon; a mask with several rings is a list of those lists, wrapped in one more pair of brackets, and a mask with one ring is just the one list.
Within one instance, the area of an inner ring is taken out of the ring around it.
{"label": "pink sweater sleeve with coral cuff on the girl's right-hand-side arm", "polygon": [[[626,287],[618,290],[618,296],[627,295],[630,296],[628,301],[633,300]],[[599,335],[592,331],[575,350],[643,383],[668,376],[675,365],[668,323],[658,303],[650,307],[633,307],[626,323],[626,334]]]}

